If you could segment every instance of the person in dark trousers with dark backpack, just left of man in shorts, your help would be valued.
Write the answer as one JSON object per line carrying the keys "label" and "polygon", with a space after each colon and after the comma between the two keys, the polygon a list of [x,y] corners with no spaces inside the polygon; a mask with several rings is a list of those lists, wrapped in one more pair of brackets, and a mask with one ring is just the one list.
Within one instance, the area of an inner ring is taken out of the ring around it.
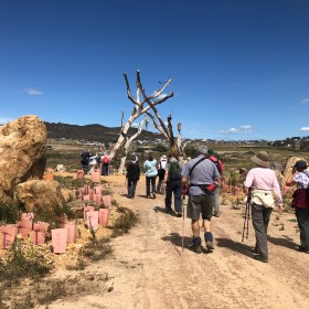
{"label": "person in dark trousers with dark backpack, just left of man in shorts", "polygon": [[173,154],[169,156],[166,167],[163,188],[166,190],[166,212],[172,214],[172,194],[174,195],[174,212],[181,217],[181,164]]}

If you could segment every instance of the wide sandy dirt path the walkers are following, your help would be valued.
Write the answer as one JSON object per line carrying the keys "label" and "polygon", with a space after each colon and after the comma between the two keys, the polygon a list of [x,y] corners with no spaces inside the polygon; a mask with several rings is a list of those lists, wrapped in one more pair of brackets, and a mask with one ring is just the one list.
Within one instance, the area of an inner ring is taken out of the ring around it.
{"label": "wide sandy dirt path the walkers are following", "polygon": [[110,258],[85,270],[108,273],[111,291],[106,287],[49,308],[308,308],[309,255],[296,251],[294,214],[283,214],[279,224],[271,216],[268,264],[248,252],[254,245],[252,226],[249,238],[241,242],[243,210],[230,206],[213,219],[214,252],[196,255],[188,251],[190,221],[185,219],[182,251],[182,219],[164,213],[163,195],[146,199],[141,179],[136,199],[128,200],[124,177],[108,181],[118,203],[140,219],[129,234],[113,241]]}

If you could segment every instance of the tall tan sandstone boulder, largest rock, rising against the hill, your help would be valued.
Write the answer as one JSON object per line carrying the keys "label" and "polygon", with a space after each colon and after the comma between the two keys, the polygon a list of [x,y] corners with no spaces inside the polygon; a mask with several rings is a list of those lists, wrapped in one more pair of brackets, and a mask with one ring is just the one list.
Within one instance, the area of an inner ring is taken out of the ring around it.
{"label": "tall tan sandstone boulder, largest rock, rising against the hill", "polygon": [[15,187],[40,179],[45,169],[47,132],[34,115],[23,116],[0,127],[0,201],[11,203]]}

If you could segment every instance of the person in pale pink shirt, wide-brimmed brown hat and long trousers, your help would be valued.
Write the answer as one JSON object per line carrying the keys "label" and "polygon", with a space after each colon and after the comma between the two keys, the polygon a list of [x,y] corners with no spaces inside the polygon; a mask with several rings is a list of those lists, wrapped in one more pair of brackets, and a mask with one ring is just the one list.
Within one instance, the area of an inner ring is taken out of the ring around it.
{"label": "person in pale pink shirt, wide-brimmed brown hat and long trousers", "polygon": [[244,187],[249,194],[252,206],[253,226],[255,230],[256,245],[253,253],[255,258],[263,263],[268,262],[267,227],[270,220],[276,196],[278,210],[281,209],[283,198],[276,174],[269,169],[269,156],[265,151],[258,151],[251,160],[256,164],[248,171]]}

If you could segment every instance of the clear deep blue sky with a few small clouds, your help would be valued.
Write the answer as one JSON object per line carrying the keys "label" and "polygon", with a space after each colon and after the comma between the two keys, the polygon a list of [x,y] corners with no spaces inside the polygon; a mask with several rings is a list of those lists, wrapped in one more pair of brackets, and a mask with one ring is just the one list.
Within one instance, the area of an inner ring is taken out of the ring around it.
{"label": "clear deep blue sky with a few small clouds", "polygon": [[0,122],[120,125],[140,71],[187,138],[309,136],[307,0],[0,0]]}

